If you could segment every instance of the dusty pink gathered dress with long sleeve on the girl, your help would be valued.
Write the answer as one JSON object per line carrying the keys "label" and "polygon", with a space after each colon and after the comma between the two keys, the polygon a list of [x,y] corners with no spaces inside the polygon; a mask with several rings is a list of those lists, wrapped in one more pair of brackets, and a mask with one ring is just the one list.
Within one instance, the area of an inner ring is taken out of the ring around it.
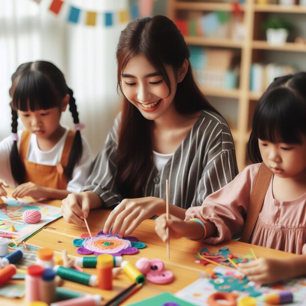
{"label": "dusty pink gathered dress with long sleeve on the girl", "polygon": [[[233,181],[206,197],[202,206],[187,210],[185,220],[198,218],[215,223],[217,235],[203,241],[215,244],[241,233],[259,166],[246,167]],[[306,193],[293,201],[277,201],[273,197],[272,184],[273,178],[251,243],[306,254]]]}

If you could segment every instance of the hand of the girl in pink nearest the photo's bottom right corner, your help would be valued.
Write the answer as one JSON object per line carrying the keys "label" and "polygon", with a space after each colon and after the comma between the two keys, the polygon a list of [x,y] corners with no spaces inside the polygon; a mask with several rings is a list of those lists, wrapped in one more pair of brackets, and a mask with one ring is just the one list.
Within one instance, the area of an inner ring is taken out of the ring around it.
{"label": "hand of the girl in pink nearest the photo's bottom right corner", "polygon": [[249,281],[260,284],[271,284],[291,277],[290,264],[284,259],[260,258],[239,263],[238,266]]}

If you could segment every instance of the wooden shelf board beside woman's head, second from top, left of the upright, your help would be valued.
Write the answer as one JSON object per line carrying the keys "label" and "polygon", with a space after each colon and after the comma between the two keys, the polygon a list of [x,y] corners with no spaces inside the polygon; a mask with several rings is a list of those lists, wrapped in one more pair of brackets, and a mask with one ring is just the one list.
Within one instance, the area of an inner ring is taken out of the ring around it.
{"label": "wooden shelf board beside woman's head, second from top, left of the upright", "polygon": [[200,36],[185,36],[185,41],[187,44],[192,45],[202,45],[202,46],[212,46],[212,47],[227,47],[227,48],[241,48],[242,42],[236,42],[230,39],[221,38],[207,38]]}

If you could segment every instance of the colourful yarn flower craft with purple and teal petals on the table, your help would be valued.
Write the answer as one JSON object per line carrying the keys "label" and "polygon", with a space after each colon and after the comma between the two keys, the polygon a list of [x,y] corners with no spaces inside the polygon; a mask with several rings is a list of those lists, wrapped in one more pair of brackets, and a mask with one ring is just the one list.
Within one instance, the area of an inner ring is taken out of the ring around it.
{"label": "colourful yarn flower craft with purple and teal petals on the table", "polygon": [[146,247],[144,242],[133,236],[119,238],[117,235],[107,235],[100,231],[97,235],[88,233],[81,235],[81,238],[74,239],[73,245],[77,246],[77,253],[81,255],[110,254],[112,256],[131,255],[138,252],[138,249]]}

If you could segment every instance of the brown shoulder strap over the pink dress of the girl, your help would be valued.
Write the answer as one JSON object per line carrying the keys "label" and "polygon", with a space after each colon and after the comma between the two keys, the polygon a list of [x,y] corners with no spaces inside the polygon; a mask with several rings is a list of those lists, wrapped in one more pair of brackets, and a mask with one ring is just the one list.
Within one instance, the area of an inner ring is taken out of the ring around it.
{"label": "brown shoulder strap over the pink dress of the girl", "polygon": [[256,175],[251,192],[250,204],[240,239],[242,242],[250,241],[258,215],[262,209],[262,203],[267,193],[272,175],[272,171],[264,163],[262,163],[259,167],[259,171]]}

